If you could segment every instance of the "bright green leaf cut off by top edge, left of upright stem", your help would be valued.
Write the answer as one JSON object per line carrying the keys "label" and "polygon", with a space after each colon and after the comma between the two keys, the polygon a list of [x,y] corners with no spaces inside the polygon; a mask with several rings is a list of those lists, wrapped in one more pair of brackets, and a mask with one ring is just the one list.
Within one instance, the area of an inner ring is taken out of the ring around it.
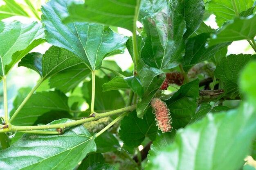
{"label": "bright green leaf cut off by top edge, left of upright stem", "polygon": [[118,26],[133,31],[139,13],[140,0],[86,0],[72,1],[68,13],[60,15],[64,22],[94,22]]}

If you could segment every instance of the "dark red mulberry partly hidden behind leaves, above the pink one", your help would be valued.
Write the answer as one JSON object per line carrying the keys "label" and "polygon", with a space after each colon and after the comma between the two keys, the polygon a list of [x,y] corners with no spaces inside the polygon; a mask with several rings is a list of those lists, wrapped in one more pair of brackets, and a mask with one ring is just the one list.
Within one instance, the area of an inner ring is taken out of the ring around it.
{"label": "dark red mulberry partly hidden behind leaves, above the pink one", "polygon": [[176,84],[182,85],[184,81],[184,76],[181,72],[169,72],[166,73],[166,78],[162,86],[160,87],[161,90],[167,90],[169,84]]}

